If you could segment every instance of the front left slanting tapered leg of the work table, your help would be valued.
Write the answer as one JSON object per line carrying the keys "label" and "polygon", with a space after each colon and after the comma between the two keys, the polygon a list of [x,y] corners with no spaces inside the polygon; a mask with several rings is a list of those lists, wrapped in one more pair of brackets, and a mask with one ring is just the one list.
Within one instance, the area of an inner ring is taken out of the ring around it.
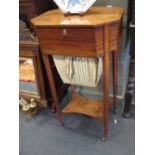
{"label": "front left slanting tapered leg of the work table", "polygon": [[47,72],[47,76],[48,76],[48,80],[49,80],[49,84],[50,84],[52,98],[54,101],[53,104],[56,107],[58,119],[59,119],[60,123],[63,125],[61,110],[60,110],[60,106],[59,106],[59,102],[58,102],[58,97],[57,97],[57,93],[56,93],[56,88],[55,88],[53,73],[52,73],[52,69],[51,69],[51,65],[50,65],[50,61],[49,61],[49,56],[43,55],[43,60],[44,60],[44,64],[45,64],[45,68],[46,68],[46,72]]}

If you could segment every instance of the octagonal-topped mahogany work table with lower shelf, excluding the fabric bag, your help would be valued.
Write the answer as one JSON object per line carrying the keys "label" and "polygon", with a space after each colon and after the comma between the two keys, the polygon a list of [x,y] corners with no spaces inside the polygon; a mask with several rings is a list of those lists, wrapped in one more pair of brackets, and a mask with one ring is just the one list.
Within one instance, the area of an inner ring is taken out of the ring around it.
{"label": "octagonal-topped mahogany work table with lower shelf, excluding the fabric bag", "polygon": [[[58,103],[49,56],[66,55],[103,58],[103,100],[89,100],[81,96],[73,96],[71,103],[67,105],[63,112],[68,110],[68,112],[83,113],[101,119],[104,124],[104,139],[108,135],[111,53],[113,58],[113,108],[116,109],[118,45],[123,13],[124,9],[120,7],[101,6],[92,7],[83,16],[65,16],[57,9],[48,11],[31,20],[39,38],[51,94],[61,124],[63,124],[62,111]],[[83,107],[80,108],[80,106]],[[72,109],[74,107],[76,108]]]}

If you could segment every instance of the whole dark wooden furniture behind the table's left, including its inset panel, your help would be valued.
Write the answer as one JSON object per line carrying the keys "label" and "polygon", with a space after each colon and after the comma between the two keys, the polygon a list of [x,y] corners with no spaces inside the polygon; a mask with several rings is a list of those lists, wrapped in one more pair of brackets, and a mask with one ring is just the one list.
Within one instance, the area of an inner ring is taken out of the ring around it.
{"label": "whole dark wooden furniture behind the table's left, including its inset panel", "polygon": [[[19,24],[19,96],[28,102],[30,99],[34,99],[38,103],[39,108],[51,106],[53,99],[49,93],[49,82],[42,60],[40,45],[38,39],[32,35],[34,34],[34,27],[30,20],[53,8],[57,8],[57,6],[51,0],[19,0],[19,18],[22,19]],[[50,63],[54,75],[56,93],[60,100],[66,93],[67,86],[60,79],[52,57],[50,58]]]}

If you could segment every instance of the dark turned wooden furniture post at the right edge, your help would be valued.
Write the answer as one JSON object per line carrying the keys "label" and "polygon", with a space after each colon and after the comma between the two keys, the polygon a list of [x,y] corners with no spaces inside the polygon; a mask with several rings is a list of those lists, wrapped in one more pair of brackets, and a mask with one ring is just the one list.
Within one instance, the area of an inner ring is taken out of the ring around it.
{"label": "dark turned wooden furniture post at the right edge", "polygon": [[130,66],[123,116],[130,117],[132,100],[135,92],[135,0],[129,1]]}

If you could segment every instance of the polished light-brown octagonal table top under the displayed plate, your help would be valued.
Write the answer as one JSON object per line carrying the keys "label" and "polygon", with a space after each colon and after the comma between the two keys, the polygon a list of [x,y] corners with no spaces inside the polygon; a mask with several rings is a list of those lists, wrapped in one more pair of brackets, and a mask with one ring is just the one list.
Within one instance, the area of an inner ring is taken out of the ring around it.
{"label": "polished light-brown octagonal table top under the displayed plate", "polygon": [[119,21],[124,13],[121,7],[91,7],[83,16],[68,15],[59,10],[50,10],[33,18],[35,26],[100,26]]}

